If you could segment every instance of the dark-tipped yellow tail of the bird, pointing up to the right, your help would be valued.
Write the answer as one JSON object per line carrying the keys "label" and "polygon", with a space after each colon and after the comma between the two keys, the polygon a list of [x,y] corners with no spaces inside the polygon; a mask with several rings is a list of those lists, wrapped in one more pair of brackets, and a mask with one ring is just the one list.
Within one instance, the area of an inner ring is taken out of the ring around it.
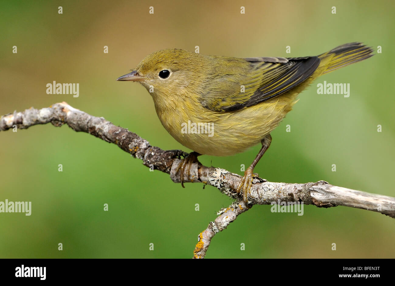
{"label": "dark-tipped yellow tail of the bird, pointing up to the right", "polygon": [[340,67],[365,60],[373,56],[373,50],[362,43],[348,43],[335,49],[320,54],[320,66],[324,68],[323,73],[329,73]]}

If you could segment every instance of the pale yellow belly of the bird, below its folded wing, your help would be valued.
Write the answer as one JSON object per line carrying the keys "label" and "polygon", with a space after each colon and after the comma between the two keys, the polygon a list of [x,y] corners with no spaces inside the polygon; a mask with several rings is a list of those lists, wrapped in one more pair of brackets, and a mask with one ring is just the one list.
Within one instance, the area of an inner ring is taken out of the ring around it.
{"label": "pale yellow belly of the bird, below its folded wing", "polygon": [[200,154],[229,156],[260,143],[292,105],[292,99],[276,99],[236,112],[218,113],[201,107],[186,112],[158,112],[158,117],[183,146]]}

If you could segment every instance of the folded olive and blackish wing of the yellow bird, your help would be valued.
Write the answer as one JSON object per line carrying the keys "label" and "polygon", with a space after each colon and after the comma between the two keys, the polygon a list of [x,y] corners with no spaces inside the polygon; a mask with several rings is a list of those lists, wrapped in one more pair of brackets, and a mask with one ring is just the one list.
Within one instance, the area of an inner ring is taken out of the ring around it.
{"label": "folded olive and blackish wing of the yellow bird", "polygon": [[229,73],[226,65],[214,70],[209,88],[201,95],[203,107],[215,112],[231,112],[267,101],[308,79],[320,64],[316,56],[244,60],[242,73]]}

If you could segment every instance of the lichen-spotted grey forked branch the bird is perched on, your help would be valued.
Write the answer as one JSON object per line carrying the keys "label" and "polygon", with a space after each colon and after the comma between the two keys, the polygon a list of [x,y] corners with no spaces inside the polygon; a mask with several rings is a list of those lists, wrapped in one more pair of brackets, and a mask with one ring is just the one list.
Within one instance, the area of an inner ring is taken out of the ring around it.
{"label": "lichen-spotted grey forked branch the bird is perched on", "polygon": [[[180,183],[180,173],[175,172],[181,163],[181,156],[188,153],[181,150],[162,150],[151,146],[137,134],[113,125],[103,117],[95,117],[71,107],[66,102],[55,103],[51,107],[26,109],[2,116],[0,131],[10,128],[26,129],[37,124],[51,122],[55,126],[66,123],[77,132],[86,132],[102,140],[117,144],[119,148],[139,158],[143,164],[167,174],[175,183]],[[186,170],[185,170],[186,173]],[[194,250],[194,258],[204,258],[213,236],[224,230],[236,217],[248,210],[241,196],[236,193],[241,179],[238,174],[214,167],[194,163],[190,169],[190,179],[184,174],[184,182],[201,182],[217,187],[223,194],[235,198],[227,209],[221,209],[215,221],[199,234],[199,242]],[[330,185],[325,181],[316,183],[273,183],[254,178],[248,200],[252,205],[273,204],[273,202],[303,202],[317,207],[347,206],[376,211],[395,218],[395,198],[379,194],[346,189]]]}

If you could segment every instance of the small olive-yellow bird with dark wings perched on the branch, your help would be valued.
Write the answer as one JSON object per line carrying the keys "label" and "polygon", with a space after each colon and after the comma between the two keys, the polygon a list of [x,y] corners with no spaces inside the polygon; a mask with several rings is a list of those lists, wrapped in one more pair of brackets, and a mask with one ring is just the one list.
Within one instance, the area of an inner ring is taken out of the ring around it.
{"label": "small olive-yellow bird with dark wings perched on the branch", "polygon": [[[254,168],[271,144],[270,133],[292,110],[297,95],[317,77],[370,58],[372,52],[359,42],[318,56],[296,58],[234,58],[162,49],[117,80],[142,84],[152,96],[164,128],[193,150],[176,170],[180,171],[182,187],[184,170],[189,180],[189,169],[199,155],[229,156],[261,143],[237,186],[237,194],[250,207],[248,193],[256,176]],[[210,124],[212,134],[196,129],[185,132],[182,126],[187,123],[203,124],[198,127]]]}

